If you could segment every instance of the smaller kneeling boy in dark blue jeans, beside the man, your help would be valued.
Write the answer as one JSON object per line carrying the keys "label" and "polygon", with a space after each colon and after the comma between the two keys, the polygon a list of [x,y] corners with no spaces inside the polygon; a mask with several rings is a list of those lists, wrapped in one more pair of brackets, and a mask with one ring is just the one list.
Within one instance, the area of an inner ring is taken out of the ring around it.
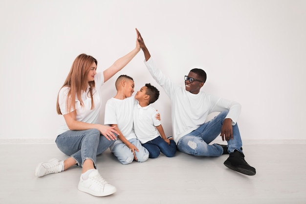
{"label": "smaller kneeling boy in dark blue jeans, beside the man", "polygon": [[150,153],[149,158],[157,158],[162,152],[167,157],[174,157],[176,144],[172,139],[165,136],[163,127],[155,118],[156,110],[150,105],[159,97],[159,91],[151,84],[146,84],[137,91],[135,99],[138,101],[134,107],[133,121],[134,130],[140,140]]}

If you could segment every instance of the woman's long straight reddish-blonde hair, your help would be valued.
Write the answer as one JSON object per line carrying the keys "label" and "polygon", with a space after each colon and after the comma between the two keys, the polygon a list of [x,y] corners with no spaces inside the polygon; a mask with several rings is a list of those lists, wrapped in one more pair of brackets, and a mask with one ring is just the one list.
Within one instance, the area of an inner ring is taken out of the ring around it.
{"label": "woman's long straight reddish-blonde hair", "polygon": [[[92,63],[95,63],[96,66],[98,64],[97,60],[90,55],[87,54],[80,54],[75,58],[71,69],[68,73],[68,76],[65,80],[63,87],[69,87],[69,91],[67,93],[67,100],[66,100],[66,110],[70,111],[71,108],[75,110],[75,99],[76,97],[81,103],[81,106],[84,106],[81,94],[82,91],[87,90],[87,86],[89,84],[89,94],[91,97],[91,110],[94,108],[93,102],[93,93],[92,89],[95,88],[94,81],[87,81],[87,74],[91,68]],[[62,89],[61,88],[61,89]],[[62,114],[60,105],[59,105],[59,94],[57,94],[57,103],[56,103],[56,111],[58,114]]]}

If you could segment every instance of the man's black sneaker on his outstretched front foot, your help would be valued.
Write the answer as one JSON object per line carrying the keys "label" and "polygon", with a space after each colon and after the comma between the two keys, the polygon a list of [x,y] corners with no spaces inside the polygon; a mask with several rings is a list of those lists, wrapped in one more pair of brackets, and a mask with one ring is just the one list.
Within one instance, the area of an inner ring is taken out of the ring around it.
{"label": "man's black sneaker on his outstretched front foot", "polygon": [[228,168],[238,171],[242,174],[249,176],[254,176],[256,174],[256,169],[250,166],[245,160],[242,152],[235,150],[233,153],[224,161],[224,165]]}

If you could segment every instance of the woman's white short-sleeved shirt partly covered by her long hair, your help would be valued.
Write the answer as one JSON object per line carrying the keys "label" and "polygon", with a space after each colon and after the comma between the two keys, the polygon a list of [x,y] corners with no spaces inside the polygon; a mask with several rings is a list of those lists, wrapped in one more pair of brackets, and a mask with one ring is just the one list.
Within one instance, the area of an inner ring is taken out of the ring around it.
{"label": "woman's white short-sleeved shirt partly covered by her long hair", "polygon": [[[82,101],[84,104],[83,107],[81,107],[80,100],[77,97],[75,98],[75,109],[76,109],[76,120],[77,121],[91,123],[91,124],[97,124],[98,122],[100,109],[102,107],[100,91],[101,91],[102,85],[104,84],[103,72],[98,72],[94,76],[94,81],[95,81],[95,88],[92,90],[94,109],[90,110],[91,109],[91,98],[88,92],[89,91],[89,86],[88,86],[87,90],[81,93]],[[69,87],[63,87],[59,91],[59,105],[60,105],[60,109],[63,115],[73,111],[72,107],[71,107],[71,110],[66,109],[67,93],[69,90],[70,90]],[[61,135],[62,133],[65,133],[68,130],[69,128],[65,122],[65,124],[60,126],[57,135]]]}

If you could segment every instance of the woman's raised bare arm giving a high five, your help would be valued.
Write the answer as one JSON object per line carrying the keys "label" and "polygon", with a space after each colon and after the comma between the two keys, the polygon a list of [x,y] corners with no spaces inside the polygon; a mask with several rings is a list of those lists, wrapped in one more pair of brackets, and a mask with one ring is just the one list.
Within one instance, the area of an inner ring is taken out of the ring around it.
{"label": "woman's raised bare arm giving a high five", "polygon": [[131,52],[116,60],[114,64],[112,64],[109,68],[103,71],[104,82],[108,81],[113,75],[115,75],[118,71],[124,68],[136,56],[136,54],[140,50],[138,38],[139,36],[137,34],[136,47]]}

